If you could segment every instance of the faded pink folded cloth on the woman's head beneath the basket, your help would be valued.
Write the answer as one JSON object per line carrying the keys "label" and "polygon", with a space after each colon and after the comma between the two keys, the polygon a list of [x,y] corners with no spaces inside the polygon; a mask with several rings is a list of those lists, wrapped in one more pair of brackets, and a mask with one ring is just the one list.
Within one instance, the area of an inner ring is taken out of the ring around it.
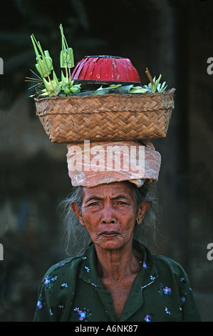
{"label": "faded pink folded cloth on the woman's head beneath the basket", "polygon": [[160,153],[151,142],[90,142],[68,144],[68,174],[74,187],[130,181],[141,187],[157,182]]}

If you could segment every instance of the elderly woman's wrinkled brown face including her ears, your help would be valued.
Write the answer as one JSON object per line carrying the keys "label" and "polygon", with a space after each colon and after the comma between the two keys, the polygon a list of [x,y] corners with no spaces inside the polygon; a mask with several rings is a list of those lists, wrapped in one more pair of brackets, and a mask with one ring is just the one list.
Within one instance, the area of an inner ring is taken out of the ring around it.
{"label": "elderly woman's wrinkled brown face including her ears", "polygon": [[72,203],[80,224],[88,229],[94,244],[103,249],[119,249],[132,244],[135,222],[141,224],[149,202],[137,206],[128,182],[83,188],[81,208]]}

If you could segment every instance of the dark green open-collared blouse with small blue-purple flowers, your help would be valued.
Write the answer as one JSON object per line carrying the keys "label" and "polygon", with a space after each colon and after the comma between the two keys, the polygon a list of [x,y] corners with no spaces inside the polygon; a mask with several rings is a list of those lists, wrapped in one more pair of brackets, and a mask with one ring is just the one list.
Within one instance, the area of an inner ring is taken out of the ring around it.
{"label": "dark green open-collared blouse with small blue-purple flowers", "polygon": [[[145,247],[140,272],[120,322],[200,321],[187,274],[167,257]],[[98,277],[92,244],[85,255],[71,257],[48,270],[38,290],[34,321],[116,322],[113,301]]]}

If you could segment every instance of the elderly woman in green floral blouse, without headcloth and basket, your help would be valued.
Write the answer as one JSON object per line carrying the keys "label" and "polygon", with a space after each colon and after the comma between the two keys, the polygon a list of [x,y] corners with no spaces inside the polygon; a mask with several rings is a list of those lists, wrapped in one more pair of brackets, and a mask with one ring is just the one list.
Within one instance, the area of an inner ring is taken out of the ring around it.
{"label": "elderly woman in green floral blouse, without headcloth and basket", "polygon": [[[93,180],[90,173],[84,178]],[[135,176],[122,179],[73,188],[65,204],[76,255],[43,277],[35,321],[200,320],[182,267],[142,244],[155,225],[155,187],[149,179],[140,186]]]}

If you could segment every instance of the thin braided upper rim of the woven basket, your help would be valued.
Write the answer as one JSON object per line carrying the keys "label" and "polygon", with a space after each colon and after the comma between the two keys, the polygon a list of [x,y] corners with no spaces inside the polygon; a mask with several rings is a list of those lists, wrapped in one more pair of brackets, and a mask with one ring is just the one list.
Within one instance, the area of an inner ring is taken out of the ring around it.
{"label": "thin braided upper rim of the woven basket", "polygon": [[70,97],[58,97],[58,96],[54,96],[54,97],[43,97],[43,98],[34,98],[35,102],[43,102],[45,100],[71,100],[71,99],[94,99],[94,97],[97,99],[98,97],[153,97],[153,96],[165,96],[165,95],[170,95],[170,94],[174,94],[175,93],[175,88],[169,89],[165,92],[155,92],[155,93],[150,93],[150,94],[91,94],[88,96],[75,96],[72,95]]}

